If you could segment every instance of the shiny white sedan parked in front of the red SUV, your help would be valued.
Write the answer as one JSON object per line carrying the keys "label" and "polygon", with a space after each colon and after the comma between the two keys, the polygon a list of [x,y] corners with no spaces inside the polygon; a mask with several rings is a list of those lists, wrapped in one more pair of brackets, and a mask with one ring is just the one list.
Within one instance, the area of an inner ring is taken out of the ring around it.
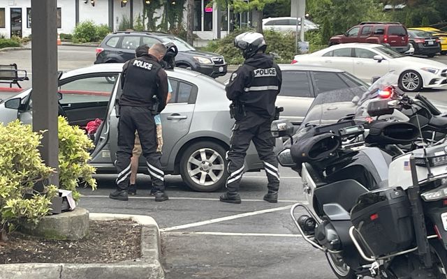
{"label": "shiny white sedan parked in front of the red SUV", "polygon": [[447,65],[430,59],[404,56],[388,47],[367,43],[332,45],[312,54],[296,55],[292,64],[346,70],[365,82],[390,70],[400,75],[399,86],[415,92],[447,84]]}

